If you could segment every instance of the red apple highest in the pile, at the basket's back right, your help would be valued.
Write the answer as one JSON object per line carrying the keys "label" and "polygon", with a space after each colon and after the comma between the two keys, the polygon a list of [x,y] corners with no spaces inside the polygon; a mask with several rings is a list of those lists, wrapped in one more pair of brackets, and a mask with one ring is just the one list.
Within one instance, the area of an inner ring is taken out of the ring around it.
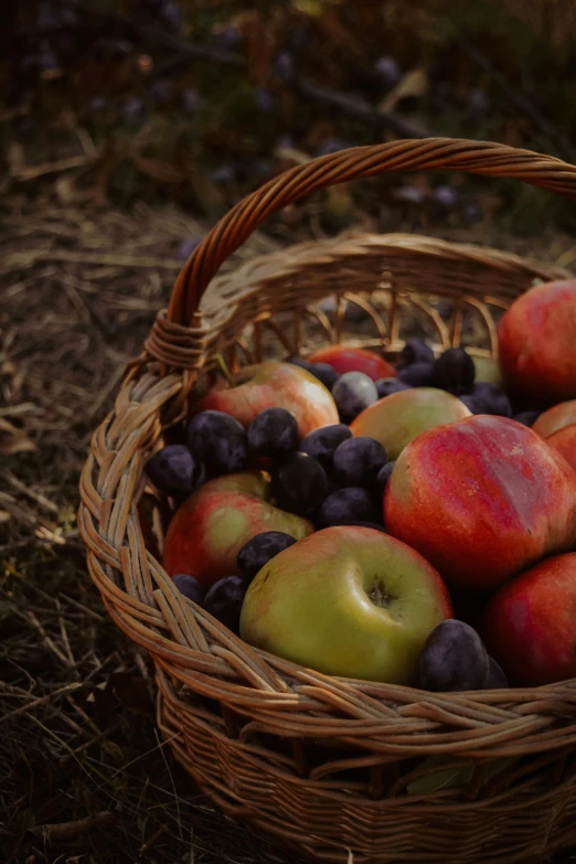
{"label": "red apple highest in the pile, at the basket's back right", "polygon": [[538,405],[576,398],[576,279],[537,285],[498,326],[506,387]]}

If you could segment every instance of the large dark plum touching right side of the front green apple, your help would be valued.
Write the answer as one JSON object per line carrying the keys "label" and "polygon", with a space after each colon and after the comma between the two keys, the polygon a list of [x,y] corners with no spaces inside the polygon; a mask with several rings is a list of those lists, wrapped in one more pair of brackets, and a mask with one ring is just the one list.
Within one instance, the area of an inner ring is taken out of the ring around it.
{"label": "large dark plum touching right side of the front green apple", "polygon": [[484,643],[465,621],[449,618],[429,633],[418,662],[418,686],[436,693],[482,690],[490,673]]}

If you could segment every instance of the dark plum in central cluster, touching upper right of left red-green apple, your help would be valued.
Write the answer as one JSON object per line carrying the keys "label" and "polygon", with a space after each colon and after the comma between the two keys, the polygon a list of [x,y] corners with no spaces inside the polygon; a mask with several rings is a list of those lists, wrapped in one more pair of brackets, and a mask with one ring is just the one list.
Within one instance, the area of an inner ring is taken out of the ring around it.
{"label": "dark plum in central cluster, touching upper right of left red-green apple", "polygon": [[279,508],[307,516],[324,500],[328,478],[320,462],[307,454],[295,452],[275,466],[271,489]]}

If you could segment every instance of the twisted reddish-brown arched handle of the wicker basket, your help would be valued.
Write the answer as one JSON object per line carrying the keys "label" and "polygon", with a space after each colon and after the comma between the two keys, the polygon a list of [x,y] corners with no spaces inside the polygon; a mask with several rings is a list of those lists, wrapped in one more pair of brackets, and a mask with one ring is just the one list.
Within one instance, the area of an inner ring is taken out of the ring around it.
{"label": "twisted reddish-brown arched handle of the wicker basket", "polygon": [[239,201],[204,237],[172,290],[168,318],[194,323],[202,295],[221,265],[273,213],[328,186],[391,171],[452,169],[515,178],[576,200],[576,168],[551,156],[490,141],[427,138],[354,147],[285,171]]}

